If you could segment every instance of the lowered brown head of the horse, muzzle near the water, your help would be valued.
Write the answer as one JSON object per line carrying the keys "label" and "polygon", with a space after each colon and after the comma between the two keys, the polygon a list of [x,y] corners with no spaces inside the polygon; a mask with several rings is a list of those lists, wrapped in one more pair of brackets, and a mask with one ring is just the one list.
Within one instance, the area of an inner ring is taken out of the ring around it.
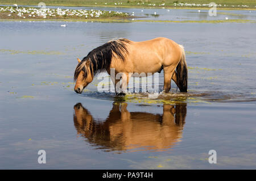
{"label": "lowered brown head of the horse, muzzle near the water", "polygon": [[93,81],[93,75],[90,69],[90,60],[81,61],[77,58],[79,64],[76,67],[74,80],[76,81],[75,92],[81,94],[82,90]]}

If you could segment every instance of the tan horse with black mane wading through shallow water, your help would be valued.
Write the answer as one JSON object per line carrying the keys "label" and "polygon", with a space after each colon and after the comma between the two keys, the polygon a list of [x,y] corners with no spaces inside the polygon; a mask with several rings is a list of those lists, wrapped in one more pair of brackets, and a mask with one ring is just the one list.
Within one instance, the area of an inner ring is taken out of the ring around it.
{"label": "tan horse with black mane wading through shallow water", "polygon": [[[74,90],[78,94],[97,73],[107,71],[110,75],[112,69],[114,76],[110,77],[117,94],[125,95],[129,79],[134,75],[131,73],[148,76],[161,70],[164,71],[164,92],[170,91],[171,79],[181,92],[187,92],[188,70],[184,47],[166,37],[147,41],[112,40],[90,51],[82,60],[77,58],[77,61]],[[117,74],[121,74],[119,79],[115,78]],[[121,91],[117,92],[117,83],[121,78]]]}

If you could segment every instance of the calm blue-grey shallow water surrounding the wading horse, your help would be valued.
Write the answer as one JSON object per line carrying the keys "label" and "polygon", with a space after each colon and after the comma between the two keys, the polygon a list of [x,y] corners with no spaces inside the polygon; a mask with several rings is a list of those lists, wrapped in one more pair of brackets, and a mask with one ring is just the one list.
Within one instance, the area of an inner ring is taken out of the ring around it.
{"label": "calm blue-grey shallow water surrounding the wading horse", "polygon": [[[1,169],[256,168],[255,23],[61,24],[0,22]],[[97,92],[106,74],[73,91],[77,57],[115,37],[158,36],[185,47],[187,94],[173,82],[168,94]]]}

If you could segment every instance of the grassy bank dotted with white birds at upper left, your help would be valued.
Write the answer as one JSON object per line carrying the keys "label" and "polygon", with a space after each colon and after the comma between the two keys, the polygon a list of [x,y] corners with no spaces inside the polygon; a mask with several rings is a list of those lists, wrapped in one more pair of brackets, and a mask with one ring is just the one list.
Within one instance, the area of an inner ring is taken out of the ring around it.
{"label": "grassy bank dotted with white birds at upper left", "polygon": [[87,19],[128,19],[136,18],[126,12],[106,10],[69,10],[69,9],[39,9],[36,7],[24,6],[0,6],[0,20],[87,20]]}

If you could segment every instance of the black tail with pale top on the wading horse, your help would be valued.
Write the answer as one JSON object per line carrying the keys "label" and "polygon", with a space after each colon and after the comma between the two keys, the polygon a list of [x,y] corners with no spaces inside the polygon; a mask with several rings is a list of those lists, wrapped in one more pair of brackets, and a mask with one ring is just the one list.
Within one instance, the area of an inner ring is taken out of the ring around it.
{"label": "black tail with pale top on the wading horse", "polygon": [[185,58],[185,50],[182,45],[179,45],[182,50],[182,56],[179,64],[176,67],[177,71],[177,86],[181,92],[187,92],[188,90],[188,69],[187,62]]}

